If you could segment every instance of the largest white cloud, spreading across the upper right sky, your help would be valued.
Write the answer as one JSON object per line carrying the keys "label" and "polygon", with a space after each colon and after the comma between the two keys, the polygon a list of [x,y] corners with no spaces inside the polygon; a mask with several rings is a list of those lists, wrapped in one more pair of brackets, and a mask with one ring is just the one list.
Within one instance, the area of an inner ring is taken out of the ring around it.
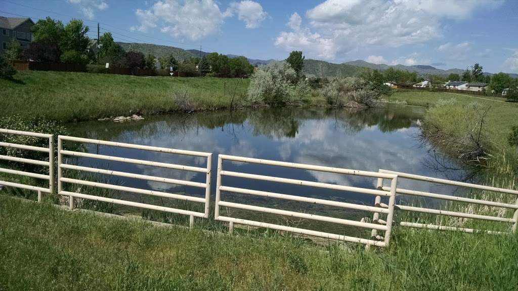
{"label": "largest white cloud, spreading across the upper right sky", "polygon": [[[297,26],[298,22],[292,22],[290,18],[293,32],[281,32],[276,44],[286,51],[294,47],[304,50],[305,47],[297,47],[300,43],[296,38],[290,38],[291,42],[286,38],[293,34],[300,35],[304,31],[306,33],[303,36],[319,36],[315,44],[325,39],[326,43],[333,45],[331,51],[335,55],[328,58],[354,48],[397,48],[440,37],[445,19],[468,19],[479,8],[491,9],[500,4],[501,1],[490,0],[327,0],[306,11],[309,26],[305,28]],[[329,50],[327,46],[324,48]],[[326,53],[315,51],[313,55],[308,54],[308,57],[323,54]]]}

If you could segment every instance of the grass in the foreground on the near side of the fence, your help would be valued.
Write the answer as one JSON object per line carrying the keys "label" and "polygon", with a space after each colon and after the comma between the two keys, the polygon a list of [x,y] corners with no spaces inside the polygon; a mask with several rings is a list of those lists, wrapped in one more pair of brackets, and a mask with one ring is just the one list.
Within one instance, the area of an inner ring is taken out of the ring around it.
{"label": "grass in the foreground on the near side of the fence", "polygon": [[395,229],[349,252],[275,233],[207,234],[0,196],[0,289],[515,290],[518,235]]}

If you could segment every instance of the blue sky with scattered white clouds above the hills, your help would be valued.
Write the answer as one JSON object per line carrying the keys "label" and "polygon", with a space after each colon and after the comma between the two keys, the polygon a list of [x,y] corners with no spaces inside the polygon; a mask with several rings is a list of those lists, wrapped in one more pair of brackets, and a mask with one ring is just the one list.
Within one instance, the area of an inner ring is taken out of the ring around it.
{"label": "blue sky with scattered white clouds above the hills", "polygon": [[[18,15],[16,15],[18,14]],[[82,19],[89,36],[257,59],[518,73],[518,0],[0,0],[0,16]]]}

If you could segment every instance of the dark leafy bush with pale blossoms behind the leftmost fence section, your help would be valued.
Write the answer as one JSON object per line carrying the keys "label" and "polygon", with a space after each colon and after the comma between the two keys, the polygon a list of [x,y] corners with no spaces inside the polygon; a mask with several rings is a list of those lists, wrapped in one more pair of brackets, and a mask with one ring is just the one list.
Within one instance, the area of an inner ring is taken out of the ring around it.
{"label": "dark leafy bush with pale blossoms behind the leftmost fence section", "polygon": [[[47,120],[45,118],[34,118],[34,117],[21,117],[19,115],[7,116],[0,118],[0,128],[21,130],[21,131],[32,131],[39,133],[50,133],[57,135],[68,135],[67,129],[57,124],[56,121]],[[49,140],[42,139],[41,137],[16,135],[16,134],[0,134],[0,142],[24,144],[38,147],[48,147]],[[55,149],[54,149],[55,150]],[[11,147],[0,147],[0,155],[13,156],[19,158],[33,159],[48,161],[49,155],[44,152],[23,150]],[[56,155],[54,155],[56,156]],[[45,169],[41,169],[40,166],[31,164],[21,164],[23,169],[32,170],[35,167],[35,171],[41,172]]]}

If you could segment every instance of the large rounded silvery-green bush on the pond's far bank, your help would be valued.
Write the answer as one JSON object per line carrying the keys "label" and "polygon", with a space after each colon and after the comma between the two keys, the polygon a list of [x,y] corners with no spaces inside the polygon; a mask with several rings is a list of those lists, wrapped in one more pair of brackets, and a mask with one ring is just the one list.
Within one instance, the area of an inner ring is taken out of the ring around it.
{"label": "large rounded silvery-green bush on the pond's far bank", "polygon": [[298,94],[307,91],[307,84],[294,86],[296,82],[297,74],[286,62],[272,62],[261,66],[252,74],[248,88],[249,101],[254,105],[270,106],[294,103],[305,98]]}

